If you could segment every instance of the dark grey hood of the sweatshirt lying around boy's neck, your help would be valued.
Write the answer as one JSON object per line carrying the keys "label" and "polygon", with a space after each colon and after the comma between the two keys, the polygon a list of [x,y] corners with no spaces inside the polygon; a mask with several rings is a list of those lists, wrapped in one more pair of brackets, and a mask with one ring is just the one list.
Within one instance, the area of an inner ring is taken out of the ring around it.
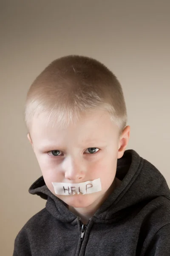
{"label": "dark grey hood of the sweatshirt lying around boy's neck", "polygon": [[[125,219],[159,196],[170,200],[170,189],[163,175],[132,149],[126,150],[118,159],[116,177],[122,181],[121,185],[96,211],[95,222]],[[66,204],[50,192],[42,176],[31,185],[29,193],[47,200],[46,209],[54,218],[62,222],[76,220],[77,216],[68,210]]]}

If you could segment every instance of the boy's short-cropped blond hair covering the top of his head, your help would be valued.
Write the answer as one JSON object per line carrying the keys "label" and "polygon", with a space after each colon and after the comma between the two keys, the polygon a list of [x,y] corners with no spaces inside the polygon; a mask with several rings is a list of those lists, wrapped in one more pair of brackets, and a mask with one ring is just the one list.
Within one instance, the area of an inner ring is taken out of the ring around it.
{"label": "boy's short-cropped blond hair covering the top of his head", "polygon": [[65,127],[96,108],[107,110],[120,131],[125,128],[125,99],[116,76],[93,58],[68,55],[52,61],[31,84],[25,122],[29,131],[33,117],[45,113],[47,125],[53,121]]}

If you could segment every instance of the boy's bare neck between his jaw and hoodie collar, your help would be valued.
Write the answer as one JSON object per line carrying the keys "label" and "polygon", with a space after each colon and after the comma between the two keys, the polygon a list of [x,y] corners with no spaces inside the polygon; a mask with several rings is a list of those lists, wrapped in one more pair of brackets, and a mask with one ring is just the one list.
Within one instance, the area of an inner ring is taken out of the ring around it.
{"label": "boy's bare neck between his jaw and hoodie collar", "polygon": [[73,212],[75,215],[81,218],[83,224],[87,224],[88,220],[95,214],[95,212],[99,209],[99,207],[104,203],[104,201],[108,198],[108,196],[113,192],[113,190],[118,187],[121,183],[121,180],[115,177],[111,187],[105,193],[102,198],[99,198],[98,201],[93,203],[93,205],[89,205],[88,207],[82,208],[74,208],[68,206],[68,209]]}

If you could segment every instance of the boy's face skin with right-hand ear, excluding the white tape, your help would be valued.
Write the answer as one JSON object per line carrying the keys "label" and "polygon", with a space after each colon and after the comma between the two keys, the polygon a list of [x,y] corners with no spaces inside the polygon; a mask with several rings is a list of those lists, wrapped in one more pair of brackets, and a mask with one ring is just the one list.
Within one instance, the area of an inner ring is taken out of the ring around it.
{"label": "boy's face skin with right-hand ear, excluding the white tape", "polygon": [[129,139],[129,126],[119,138],[119,128],[109,113],[84,113],[76,125],[58,128],[45,125],[46,117],[33,119],[31,138],[42,175],[54,194],[52,182],[81,183],[100,178],[102,190],[87,195],[56,195],[70,207],[88,207],[112,191],[117,159],[122,157]]}

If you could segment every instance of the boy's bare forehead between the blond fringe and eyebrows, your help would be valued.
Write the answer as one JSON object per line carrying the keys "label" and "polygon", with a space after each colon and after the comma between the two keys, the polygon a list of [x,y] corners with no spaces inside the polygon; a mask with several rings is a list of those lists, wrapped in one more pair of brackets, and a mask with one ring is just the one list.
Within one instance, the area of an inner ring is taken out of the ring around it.
{"label": "boy's bare forehead between the blond fringe and eyebrows", "polygon": [[49,140],[68,137],[69,134],[77,135],[80,140],[84,142],[97,142],[108,136],[109,131],[117,132],[116,125],[111,122],[108,113],[95,112],[84,114],[76,123],[68,123],[66,125],[59,125],[57,119],[48,119],[46,115],[35,116],[32,119],[31,133],[36,137],[48,137]]}

